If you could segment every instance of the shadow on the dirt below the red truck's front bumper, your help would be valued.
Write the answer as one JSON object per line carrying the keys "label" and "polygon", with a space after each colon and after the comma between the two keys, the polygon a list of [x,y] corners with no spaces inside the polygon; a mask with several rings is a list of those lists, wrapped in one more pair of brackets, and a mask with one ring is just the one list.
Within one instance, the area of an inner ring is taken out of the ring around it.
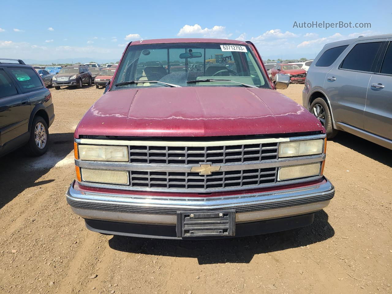
{"label": "shadow on the dirt below the red truck's front bumper", "polygon": [[321,210],[315,213],[312,225],[284,232],[207,241],[113,236],[109,246],[123,252],[197,258],[199,264],[249,263],[255,254],[310,245],[327,240],[334,234],[328,223],[328,214]]}

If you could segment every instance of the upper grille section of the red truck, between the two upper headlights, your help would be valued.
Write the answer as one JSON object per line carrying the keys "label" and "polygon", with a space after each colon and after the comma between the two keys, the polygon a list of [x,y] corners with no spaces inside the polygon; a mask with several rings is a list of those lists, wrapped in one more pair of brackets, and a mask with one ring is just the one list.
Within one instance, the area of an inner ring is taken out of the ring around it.
{"label": "upper grille section of the red truck, between the two upper headlights", "polygon": [[260,162],[278,158],[278,143],[209,146],[168,147],[130,146],[131,163],[144,164],[225,164]]}

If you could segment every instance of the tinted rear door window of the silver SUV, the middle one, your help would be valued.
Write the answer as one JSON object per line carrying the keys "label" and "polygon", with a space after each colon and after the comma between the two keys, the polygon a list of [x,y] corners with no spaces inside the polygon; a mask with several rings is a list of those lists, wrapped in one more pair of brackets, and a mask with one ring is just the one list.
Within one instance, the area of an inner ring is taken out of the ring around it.
{"label": "tinted rear door window of the silver SUV, the middle one", "polygon": [[347,54],[340,68],[354,71],[372,71],[372,65],[382,42],[361,43]]}

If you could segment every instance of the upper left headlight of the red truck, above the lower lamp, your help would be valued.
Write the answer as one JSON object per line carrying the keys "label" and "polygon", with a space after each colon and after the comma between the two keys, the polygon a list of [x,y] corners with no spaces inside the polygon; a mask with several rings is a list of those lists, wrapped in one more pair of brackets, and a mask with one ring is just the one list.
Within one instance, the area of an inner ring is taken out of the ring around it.
{"label": "upper left headlight of the red truck, above the lower lamp", "polygon": [[99,161],[128,161],[128,147],[79,145],[79,159]]}

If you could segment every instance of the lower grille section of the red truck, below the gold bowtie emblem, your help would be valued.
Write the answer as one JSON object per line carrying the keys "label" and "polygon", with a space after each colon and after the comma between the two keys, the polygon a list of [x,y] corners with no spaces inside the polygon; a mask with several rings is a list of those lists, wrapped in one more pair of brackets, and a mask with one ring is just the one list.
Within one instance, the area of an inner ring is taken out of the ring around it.
{"label": "lower grille section of the red truck, below the gold bowtie emblem", "polygon": [[197,172],[131,171],[131,187],[150,189],[215,190],[255,187],[276,183],[277,168],[245,169],[242,171]]}

